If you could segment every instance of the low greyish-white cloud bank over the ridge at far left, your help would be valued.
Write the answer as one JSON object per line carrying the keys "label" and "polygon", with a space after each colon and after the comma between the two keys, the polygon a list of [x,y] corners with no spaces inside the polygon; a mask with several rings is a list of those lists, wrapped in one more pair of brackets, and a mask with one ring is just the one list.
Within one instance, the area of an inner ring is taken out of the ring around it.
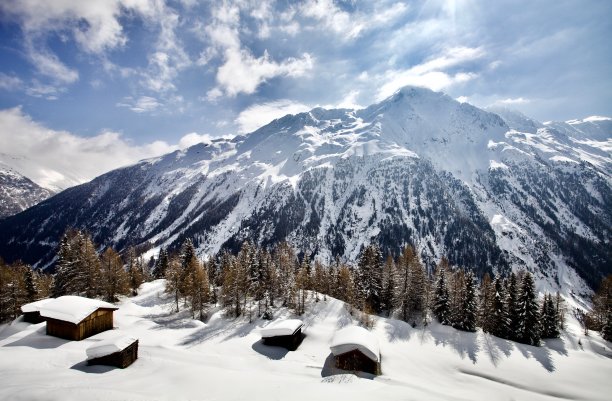
{"label": "low greyish-white cloud bank over the ridge at far left", "polygon": [[53,190],[87,182],[138,160],[209,140],[208,135],[190,133],[176,145],[164,141],[133,145],[116,132],[81,137],[46,128],[18,107],[0,110],[0,161]]}

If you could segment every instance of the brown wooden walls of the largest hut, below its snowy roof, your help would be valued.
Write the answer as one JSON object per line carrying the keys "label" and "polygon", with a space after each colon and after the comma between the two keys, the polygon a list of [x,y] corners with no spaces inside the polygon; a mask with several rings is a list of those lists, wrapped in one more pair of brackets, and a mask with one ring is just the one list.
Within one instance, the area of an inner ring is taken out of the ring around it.
{"label": "brown wooden walls of the largest hut, below its snowy roof", "polygon": [[79,324],[46,318],[47,334],[66,340],[80,341],[113,328],[113,309],[98,309]]}

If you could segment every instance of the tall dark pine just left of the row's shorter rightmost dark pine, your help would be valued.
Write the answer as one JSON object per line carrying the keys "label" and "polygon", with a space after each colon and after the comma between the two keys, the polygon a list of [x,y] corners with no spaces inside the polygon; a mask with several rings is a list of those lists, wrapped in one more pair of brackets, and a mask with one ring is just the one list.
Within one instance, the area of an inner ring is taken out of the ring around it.
{"label": "tall dark pine just left of the row's shorter rightmost dark pine", "polygon": [[535,293],[535,284],[531,273],[526,272],[521,281],[521,289],[517,299],[519,342],[538,345],[540,343],[540,313]]}

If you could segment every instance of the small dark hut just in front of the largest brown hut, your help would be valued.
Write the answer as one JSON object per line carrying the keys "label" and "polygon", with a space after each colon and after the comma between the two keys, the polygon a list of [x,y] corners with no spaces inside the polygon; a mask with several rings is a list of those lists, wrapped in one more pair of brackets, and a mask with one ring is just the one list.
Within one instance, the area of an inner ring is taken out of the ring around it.
{"label": "small dark hut just in front of the largest brown hut", "polygon": [[109,365],[124,369],[138,359],[138,340],[120,336],[100,341],[87,349],[88,365]]}

